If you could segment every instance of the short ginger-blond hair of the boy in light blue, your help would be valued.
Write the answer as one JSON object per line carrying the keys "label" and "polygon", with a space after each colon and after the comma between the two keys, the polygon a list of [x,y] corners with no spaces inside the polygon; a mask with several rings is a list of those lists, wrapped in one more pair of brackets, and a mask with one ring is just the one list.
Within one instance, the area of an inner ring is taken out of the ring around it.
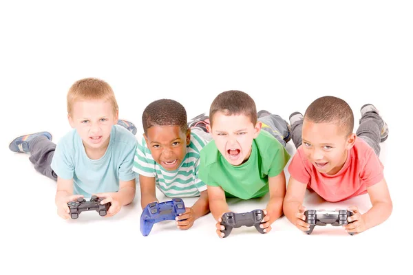
{"label": "short ginger-blond hair of the boy in light blue", "polygon": [[77,80],[67,92],[67,113],[72,114],[73,104],[77,100],[105,99],[112,103],[114,113],[118,111],[114,91],[109,84],[98,78]]}

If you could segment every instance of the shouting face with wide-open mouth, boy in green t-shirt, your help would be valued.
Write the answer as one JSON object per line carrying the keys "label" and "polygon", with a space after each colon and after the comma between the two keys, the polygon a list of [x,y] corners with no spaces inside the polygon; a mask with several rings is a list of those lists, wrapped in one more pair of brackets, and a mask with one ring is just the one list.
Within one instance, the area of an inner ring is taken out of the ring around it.
{"label": "shouting face with wide-open mouth, boy in green t-shirt", "polygon": [[260,133],[261,122],[254,125],[246,115],[217,112],[213,115],[212,128],[207,127],[226,161],[238,166],[251,155],[253,139]]}

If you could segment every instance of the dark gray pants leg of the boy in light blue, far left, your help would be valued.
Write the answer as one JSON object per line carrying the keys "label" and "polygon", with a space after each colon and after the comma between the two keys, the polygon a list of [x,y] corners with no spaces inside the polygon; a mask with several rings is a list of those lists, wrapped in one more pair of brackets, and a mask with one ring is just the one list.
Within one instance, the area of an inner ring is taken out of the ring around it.
{"label": "dark gray pants leg of the boy in light blue, far left", "polygon": [[47,137],[41,135],[39,137],[34,137],[34,139],[30,141],[29,149],[29,159],[30,162],[34,164],[34,169],[42,175],[57,181],[57,175],[50,166],[50,164],[52,164],[56,144],[50,141]]}

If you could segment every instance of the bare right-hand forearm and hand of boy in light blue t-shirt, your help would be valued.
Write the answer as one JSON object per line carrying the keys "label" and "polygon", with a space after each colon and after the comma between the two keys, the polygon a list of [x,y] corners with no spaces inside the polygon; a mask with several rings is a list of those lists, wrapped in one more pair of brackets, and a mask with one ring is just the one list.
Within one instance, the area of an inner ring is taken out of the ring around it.
{"label": "bare right-hand forearm and hand of boy in light blue t-shirt", "polygon": [[103,192],[95,195],[105,197],[105,199],[100,201],[101,204],[111,203],[105,217],[112,217],[120,211],[122,206],[126,206],[134,200],[135,193],[136,181],[135,179],[131,179],[129,181],[120,180],[118,192]]}

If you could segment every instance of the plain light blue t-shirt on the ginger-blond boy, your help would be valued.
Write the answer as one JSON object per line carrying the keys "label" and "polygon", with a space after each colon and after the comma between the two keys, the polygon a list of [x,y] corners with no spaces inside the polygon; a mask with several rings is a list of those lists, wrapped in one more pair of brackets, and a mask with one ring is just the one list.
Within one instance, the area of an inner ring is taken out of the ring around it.
{"label": "plain light blue t-shirt on the ginger-blond boy", "polygon": [[138,144],[136,137],[123,126],[114,125],[103,157],[89,159],[76,129],[67,133],[56,145],[52,159],[54,173],[72,179],[74,195],[92,197],[98,192],[117,192],[119,180],[136,178],[132,170]]}

